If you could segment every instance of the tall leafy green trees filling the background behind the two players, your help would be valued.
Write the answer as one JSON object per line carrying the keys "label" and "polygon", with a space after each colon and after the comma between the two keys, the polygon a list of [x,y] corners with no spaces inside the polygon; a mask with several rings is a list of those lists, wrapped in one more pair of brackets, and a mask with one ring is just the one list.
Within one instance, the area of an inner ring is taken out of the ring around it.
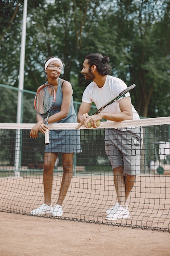
{"label": "tall leafy green trees filling the background behind the two players", "polygon": [[[18,87],[24,0],[0,2],[0,83]],[[88,85],[81,74],[86,54],[110,57],[111,72],[127,85],[144,117],[170,115],[169,0],[29,0],[24,89],[44,83],[44,61],[59,56],[62,77],[71,81],[74,100]]]}

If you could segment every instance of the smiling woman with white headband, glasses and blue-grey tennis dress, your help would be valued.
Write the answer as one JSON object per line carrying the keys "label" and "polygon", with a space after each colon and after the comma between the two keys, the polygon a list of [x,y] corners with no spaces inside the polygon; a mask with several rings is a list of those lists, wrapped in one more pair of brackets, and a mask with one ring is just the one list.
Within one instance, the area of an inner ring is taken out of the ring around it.
{"label": "smiling woman with white headband, glasses and blue-grey tennis dress", "polygon": [[[53,85],[56,91],[55,104],[48,123],[76,123],[77,116],[73,106],[73,89],[71,83],[60,79],[63,70],[63,62],[60,58],[50,57],[44,64],[48,84]],[[31,129],[30,137],[37,138],[38,132],[45,133],[48,127],[42,117],[37,113],[37,124]],[[32,215],[49,214],[61,217],[63,214],[62,203],[70,186],[73,176],[74,153],[81,152],[80,133],[76,130],[51,130],[49,132],[50,144],[46,145],[44,153],[44,204],[31,211]],[[73,140],[74,138],[74,140]],[[74,143],[74,144],[73,144]],[[53,169],[58,157],[62,153],[63,177],[57,203],[51,204],[51,191],[53,184]]]}

